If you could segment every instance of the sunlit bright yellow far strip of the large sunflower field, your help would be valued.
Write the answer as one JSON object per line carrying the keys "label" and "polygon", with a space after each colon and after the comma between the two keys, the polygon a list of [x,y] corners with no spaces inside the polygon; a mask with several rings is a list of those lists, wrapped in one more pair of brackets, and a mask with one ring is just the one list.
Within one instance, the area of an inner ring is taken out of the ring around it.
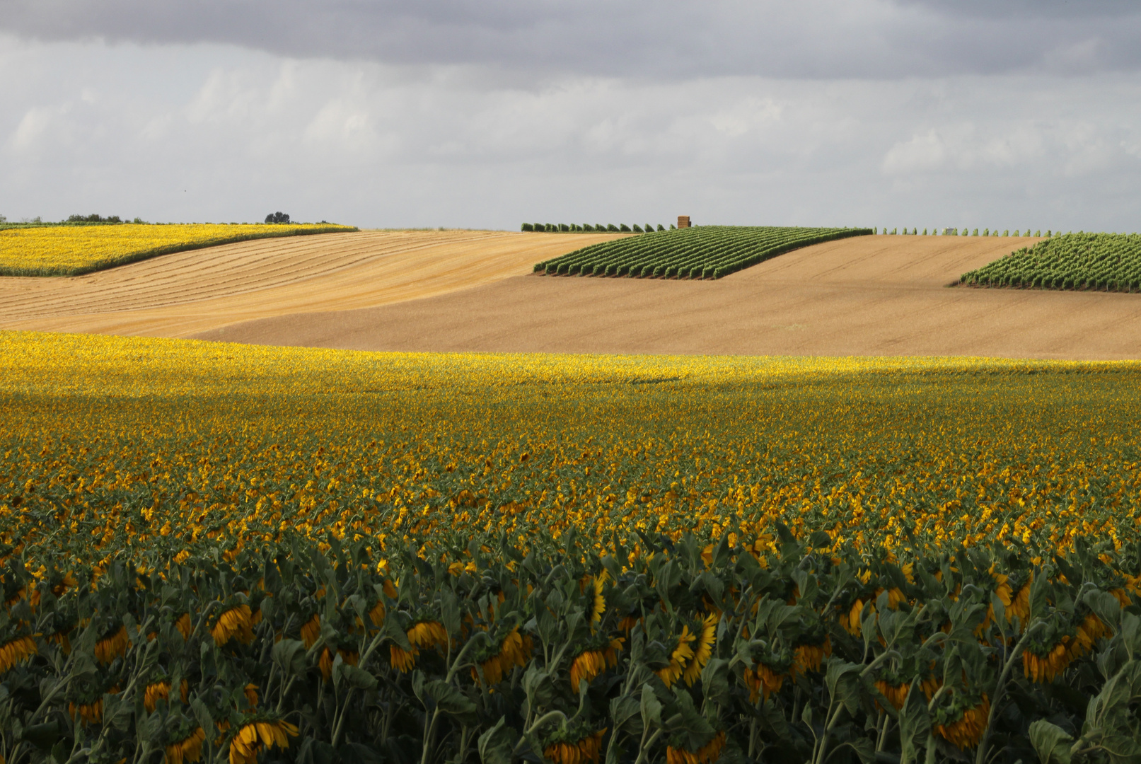
{"label": "sunlit bright yellow far strip of the large sunflower field", "polygon": [[[0,331],[0,391],[87,395],[434,390],[456,383],[733,385],[835,375],[1139,373],[1138,360],[945,356],[655,356],[385,352],[207,340]],[[127,381],[129,380],[129,384]]]}

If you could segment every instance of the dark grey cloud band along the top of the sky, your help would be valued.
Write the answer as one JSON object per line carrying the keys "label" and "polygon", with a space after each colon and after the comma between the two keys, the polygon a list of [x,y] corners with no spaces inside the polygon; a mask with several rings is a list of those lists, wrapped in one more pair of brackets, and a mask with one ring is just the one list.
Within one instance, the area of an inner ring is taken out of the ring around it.
{"label": "dark grey cloud band along the top of the sky", "polygon": [[666,79],[1141,68],[1135,0],[0,0],[0,30]]}

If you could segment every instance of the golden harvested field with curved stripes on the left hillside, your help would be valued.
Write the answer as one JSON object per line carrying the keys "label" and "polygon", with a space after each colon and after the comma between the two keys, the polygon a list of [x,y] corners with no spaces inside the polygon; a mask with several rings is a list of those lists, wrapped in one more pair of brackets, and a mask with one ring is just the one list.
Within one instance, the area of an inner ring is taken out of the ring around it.
{"label": "golden harvested field with curved stripes on the left hillside", "polygon": [[0,328],[186,336],[383,306],[528,274],[615,234],[359,231],[167,254],[78,277],[0,277]]}

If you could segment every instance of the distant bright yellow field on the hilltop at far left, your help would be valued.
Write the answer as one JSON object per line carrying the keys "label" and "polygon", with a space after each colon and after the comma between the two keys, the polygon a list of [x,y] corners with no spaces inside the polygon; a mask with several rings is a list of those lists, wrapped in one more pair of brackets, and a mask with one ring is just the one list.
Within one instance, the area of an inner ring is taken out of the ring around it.
{"label": "distant bright yellow field on the hilltop at far left", "polygon": [[75,276],[159,254],[253,238],[351,231],[351,226],[122,223],[0,230],[0,276]]}

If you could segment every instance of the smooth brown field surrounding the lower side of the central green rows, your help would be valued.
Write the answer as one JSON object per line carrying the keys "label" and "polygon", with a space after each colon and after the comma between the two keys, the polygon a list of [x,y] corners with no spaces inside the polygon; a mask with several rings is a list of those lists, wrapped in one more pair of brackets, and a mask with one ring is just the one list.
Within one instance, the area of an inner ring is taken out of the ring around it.
{"label": "smooth brown field surrounding the lower side of the central green rows", "polygon": [[197,336],[362,350],[1141,358],[1141,295],[947,286],[1035,241],[861,236],[715,282],[512,276]]}

